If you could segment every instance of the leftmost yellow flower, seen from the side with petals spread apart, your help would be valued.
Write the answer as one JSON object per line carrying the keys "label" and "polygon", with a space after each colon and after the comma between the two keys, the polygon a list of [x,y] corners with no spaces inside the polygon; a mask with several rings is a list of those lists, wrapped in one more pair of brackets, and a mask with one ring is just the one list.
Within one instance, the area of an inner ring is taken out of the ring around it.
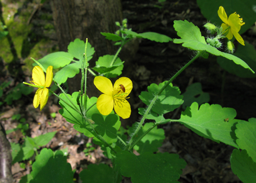
{"label": "leftmost yellow flower, seen from the side with petals spread apart", "polygon": [[48,87],[50,87],[52,83],[52,77],[52,66],[49,66],[46,70],[46,79],[45,73],[40,66],[37,65],[32,70],[32,81],[30,81],[30,83],[35,86],[41,86],[41,88],[38,87],[38,90],[36,90],[36,94],[33,99],[33,106],[37,108],[40,104],[40,111],[47,103],[49,95]]}

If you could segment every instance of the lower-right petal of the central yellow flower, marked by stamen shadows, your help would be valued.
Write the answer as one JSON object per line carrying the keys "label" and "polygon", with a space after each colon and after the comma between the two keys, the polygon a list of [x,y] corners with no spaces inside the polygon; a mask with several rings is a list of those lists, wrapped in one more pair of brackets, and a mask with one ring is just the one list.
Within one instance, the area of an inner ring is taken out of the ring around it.
{"label": "lower-right petal of the central yellow flower, marked by stamen shadows", "polygon": [[130,118],[131,109],[130,104],[127,100],[122,100],[122,102],[115,102],[114,110],[118,116],[123,119]]}

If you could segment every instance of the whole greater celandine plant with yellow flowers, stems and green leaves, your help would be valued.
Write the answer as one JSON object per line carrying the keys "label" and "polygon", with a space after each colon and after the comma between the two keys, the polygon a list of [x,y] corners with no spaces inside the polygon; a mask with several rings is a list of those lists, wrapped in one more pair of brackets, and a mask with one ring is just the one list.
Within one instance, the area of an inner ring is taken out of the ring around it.
{"label": "whole greater celandine plant with yellow flowers, stems and green leaves", "polygon": [[[53,93],[59,98],[62,107],[59,113],[69,123],[73,123],[73,127],[78,132],[92,137],[93,143],[99,145],[104,155],[111,159],[111,167],[107,164],[90,164],[87,169],[81,171],[79,176],[83,182],[99,183],[99,180],[102,180],[100,181],[102,183],[120,183],[122,176],[131,177],[133,183],[178,182],[182,169],[186,166],[185,160],[179,158],[177,154],[158,153],[158,148],[165,139],[164,130],[158,128],[158,125],[170,122],[181,123],[202,137],[237,148],[231,155],[232,171],[244,182],[249,182],[250,176],[256,175],[256,172],[250,171],[250,168],[256,167],[256,147],[250,145],[256,136],[246,133],[247,130],[251,132],[251,129],[256,128],[255,118],[249,121],[235,119],[235,109],[223,108],[218,104],[210,105],[205,103],[207,101],[186,103],[188,107],[181,113],[180,119],[168,119],[164,116],[180,107],[186,98],[184,97],[183,100],[180,89],[173,86],[172,81],[199,57],[208,58],[209,53],[221,56],[254,73],[246,62],[232,55],[235,50],[233,37],[242,46],[246,44],[239,35],[241,26],[245,24],[242,17],[236,12],[228,17],[222,6],[216,14],[223,23],[220,26],[206,23],[204,27],[209,33],[207,38],[201,35],[197,26],[186,20],[174,21],[173,27],[180,39],[171,39],[155,32],[136,33],[128,29],[126,19],[121,24],[116,22],[119,30],[115,34],[102,32],[102,35],[114,41],[119,49],[116,55],[100,57],[94,67],[91,67],[90,59],[95,51],[88,40],[84,43],[80,39],[75,39],[69,44],[67,52],[51,53],[38,61],[33,59],[37,66],[32,71],[31,82],[25,84],[38,88],[33,100],[34,107],[40,105],[42,110],[47,103],[49,91]],[[129,94],[133,89],[133,81],[126,76],[120,77],[124,62],[118,55],[123,46],[135,37],[155,42],[172,41],[193,50],[195,54],[171,79],[158,85],[152,83],[147,87],[147,91],[141,92],[140,100],[147,107],[139,108],[138,112],[142,116],[140,121],[135,122],[128,130],[124,130],[121,128],[120,117],[130,118],[132,113]],[[62,62],[59,62],[58,58],[62,58]],[[59,71],[53,75],[53,69]],[[65,93],[60,85],[79,73],[80,69],[81,90],[71,95]],[[66,75],[66,71],[69,71],[69,76]],[[43,72],[46,72],[46,77]],[[102,92],[100,96],[89,98],[86,95],[88,72],[90,77],[94,77],[93,83],[96,88]],[[109,78],[116,78],[114,85]],[[60,95],[50,90],[52,81],[62,91]],[[187,95],[189,94],[184,93],[184,96]],[[146,119],[153,122],[145,123]],[[139,155],[133,153],[135,150]],[[50,160],[50,157],[53,159]],[[43,149],[33,163],[32,182],[37,178],[46,180],[42,176],[45,174],[43,167],[50,165],[40,164],[42,160],[45,162],[49,160],[49,164],[54,164],[55,160],[62,163],[62,166],[55,169],[56,172],[62,172],[62,176],[54,174],[51,176],[52,180],[61,179],[66,183],[73,181],[71,167],[66,163],[63,153],[61,151],[53,153],[50,149]],[[239,164],[243,164],[243,169]],[[249,175],[245,175],[245,171],[249,172]]]}

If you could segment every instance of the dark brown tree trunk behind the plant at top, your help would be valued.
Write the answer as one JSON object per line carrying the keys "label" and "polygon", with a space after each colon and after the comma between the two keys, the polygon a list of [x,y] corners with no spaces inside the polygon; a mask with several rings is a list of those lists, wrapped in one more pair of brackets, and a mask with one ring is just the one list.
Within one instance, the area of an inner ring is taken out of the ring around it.
{"label": "dark brown tree trunk behind the plant at top", "polygon": [[[100,32],[117,30],[115,22],[122,20],[120,0],[51,0],[51,7],[60,51],[67,51],[69,43],[76,38],[83,41],[88,38],[95,48],[91,67],[100,56],[115,53],[113,43]],[[79,90],[79,75],[69,80],[70,93]]]}

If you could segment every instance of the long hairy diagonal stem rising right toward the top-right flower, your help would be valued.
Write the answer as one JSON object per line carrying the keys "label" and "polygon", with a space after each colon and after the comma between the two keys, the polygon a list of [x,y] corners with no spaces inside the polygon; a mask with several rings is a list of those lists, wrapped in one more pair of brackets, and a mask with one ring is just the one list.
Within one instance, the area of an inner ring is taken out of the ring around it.
{"label": "long hairy diagonal stem rising right toward the top-right flower", "polygon": [[202,54],[202,51],[198,51],[197,55],[194,56],[194,58],[192,58],[186,65],[184,65],[176,74],[174,74],[174,76],[171,77],[171,79],[165,83],[165,85],[159,90],[159,92],[154,96],[153,100],[150,102],[149,106],[147,107],[147,110],[145,111],[145,114],[143,115],[142,119],[140,120],[135,132],[133,133],[132,137],[130,138],[130,141],[128,143],[128,145],[126,146],[126,149],[128,149],[128,151],[130,151],[131,149],[131,144],[133,143],[134,138],[136,137],[137,133],[139,132],[140,128],[142,127],[147,115],[149,114],[149,111],[152,109],[154,103],[156,102],[157,98],[159,97],[159,95],[164,91],[164,89],[178,76],[180,75],[181,72],[184,71],[184,69],[186,69],[192,62],[194,62],[194,60],[196,60],[200,55]]}

